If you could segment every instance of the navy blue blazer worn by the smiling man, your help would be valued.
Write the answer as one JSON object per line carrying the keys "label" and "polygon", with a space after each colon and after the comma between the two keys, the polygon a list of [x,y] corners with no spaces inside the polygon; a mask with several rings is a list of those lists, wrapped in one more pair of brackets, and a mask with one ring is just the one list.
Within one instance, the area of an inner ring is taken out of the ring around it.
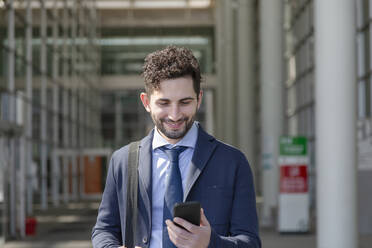
{"label": "navy blue blazer worn by the smiling man", "polygon": [[[151,238],[153,132],[141,140],[136,244]],[[114,152],[92,232],[93,247],[121,246],[125,240],[128,146]],[[261,247],[252,172],[242,152],[207,134],[200,126],[189,165],[185,201],[199,201],[211,224],[209,247]]]}

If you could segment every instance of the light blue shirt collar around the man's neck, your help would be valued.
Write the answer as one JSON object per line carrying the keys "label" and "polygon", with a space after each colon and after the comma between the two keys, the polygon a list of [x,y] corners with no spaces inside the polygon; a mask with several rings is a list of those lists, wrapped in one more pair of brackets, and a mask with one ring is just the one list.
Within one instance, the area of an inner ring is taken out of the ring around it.
{"label": "light blue shirt collar around the man's neck", "polygon": [[170,147],[186,146],[190,148],[195,148],[197,138],[198,138],[198,122],[197,121],[194,121],[194,123],[192,124],[187,134],[174,145],[166,141],[163,138],[163,136],[161,136],[158,129],[155,127],[154,138],[152,140],[152,150],[155,150],[156,148],[159,148],[161,146],[170,146]]}

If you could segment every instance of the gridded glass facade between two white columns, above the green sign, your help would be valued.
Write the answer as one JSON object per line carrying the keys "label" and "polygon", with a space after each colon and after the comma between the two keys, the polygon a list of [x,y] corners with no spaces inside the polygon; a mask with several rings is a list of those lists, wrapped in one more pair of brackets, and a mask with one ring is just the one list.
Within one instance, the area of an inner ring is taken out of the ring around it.
{"label": "gridded glass facade between two white columns, above the green sign", "polygon": [[[285,132],[305,136],[310,155],[310,194],[315,199],[315,95],[313,1],[285,1]],[[314,205],[312,205],[314,207]]]}

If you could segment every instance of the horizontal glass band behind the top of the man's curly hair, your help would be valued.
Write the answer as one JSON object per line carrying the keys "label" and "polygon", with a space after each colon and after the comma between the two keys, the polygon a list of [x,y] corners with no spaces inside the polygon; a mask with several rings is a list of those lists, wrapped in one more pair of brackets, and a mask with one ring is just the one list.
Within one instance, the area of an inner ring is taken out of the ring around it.
{"label": "horizontal glass band behind the top of the man's curly hair", "polygon": [[[207,30],[210,31],[210,30]],[[143,32],[147,32],[143,30]],[[166,31],[165,31],[166,32]],[[181,33],[175,36],[139,36],[139,37],[102,37],[102,75],[139,75],[147,54],[159,50],[168,44],[188,47],[200,62],[203,73],[211,73],[213,33],[195,34],[191,37]]]}

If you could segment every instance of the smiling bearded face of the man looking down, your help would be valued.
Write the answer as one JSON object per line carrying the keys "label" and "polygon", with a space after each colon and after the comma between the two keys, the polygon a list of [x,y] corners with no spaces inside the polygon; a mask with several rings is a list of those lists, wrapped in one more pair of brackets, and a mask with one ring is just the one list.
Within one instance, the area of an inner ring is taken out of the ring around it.
{"label": "smiling bearded face of the man looking down", "polygon": [[160,134],[175,144],[191,128],[202,96],[200,91],[197,98],[191,77],[180,77],[162,81],[150,96],[141,93],[141,101]]}

